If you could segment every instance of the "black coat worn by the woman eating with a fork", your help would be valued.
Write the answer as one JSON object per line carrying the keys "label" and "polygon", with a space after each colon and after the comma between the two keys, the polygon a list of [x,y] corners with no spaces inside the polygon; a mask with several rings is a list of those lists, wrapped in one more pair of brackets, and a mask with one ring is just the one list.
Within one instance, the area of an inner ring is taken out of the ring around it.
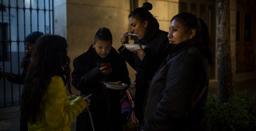
{"label": "black coat worn by the woman eating with a fork", "polygon": [[[142,106],[145,100],[145,95],[149,83],[157,71],[161,63],[166,59],[170,52],[169,40],[167,38],[168,32],[162,30],[156,30],[155,35],[147,42],[143,42],[138,38],[135,39],[134,44],[141,43],[146,45],[144,49],[146,55],[144,59],[140,60],[138,55],[130,52],[128,49],[123,49],[123,46],[118,49],[122,57],[128,62],[128,64],[137,72],[135,78],[135,115],[137,119],[142,122]],[[123,49],[123,50],[121,50]]]}

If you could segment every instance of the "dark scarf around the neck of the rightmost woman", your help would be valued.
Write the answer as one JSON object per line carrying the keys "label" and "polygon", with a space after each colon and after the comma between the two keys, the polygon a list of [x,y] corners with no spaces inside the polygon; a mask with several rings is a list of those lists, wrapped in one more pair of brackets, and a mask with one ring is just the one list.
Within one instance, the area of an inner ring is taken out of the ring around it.
{"label": "dark scarf around the neck of the rightmost woman", "polygon": [[174,57],[175,55],[179,54],[183,50],[187,50],[191,47],[195,47],[204,54],[207,59],[209,60],[209,63],[213,60],[213,54],[211,52],[211,48],[208,45],[204,45],[202,43],[202,38],[199,36],[195,36],[192,39],[185,40],[183,42],[180,42],[179,44],[173,44],[173,48],[170,52],[170,57]]}

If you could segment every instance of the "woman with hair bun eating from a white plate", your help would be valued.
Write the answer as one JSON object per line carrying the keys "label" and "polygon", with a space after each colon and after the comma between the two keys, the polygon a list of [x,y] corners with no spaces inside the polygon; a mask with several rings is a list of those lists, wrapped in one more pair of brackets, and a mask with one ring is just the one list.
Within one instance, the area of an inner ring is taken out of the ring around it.
{"label": "woman with hair bun eating from a white plate", "polygon": [[[121,46],[118,51],[128,64],[137,72],[135,78],[135,116],[142,123],[142,106],[145,100],[147,87],[152,76],[170,52],[166,35],[168,32],[159,29],[159,23],[149,12],[151,3],[144,3],[142,7],[133,10],[129,18],[131,32],[137,34],[134,44],[139,44],[140,49],[128,50]],[[128,32],[120,37],[123,44],[129,44]],[[142,49],[141,45],[147,48]]]}

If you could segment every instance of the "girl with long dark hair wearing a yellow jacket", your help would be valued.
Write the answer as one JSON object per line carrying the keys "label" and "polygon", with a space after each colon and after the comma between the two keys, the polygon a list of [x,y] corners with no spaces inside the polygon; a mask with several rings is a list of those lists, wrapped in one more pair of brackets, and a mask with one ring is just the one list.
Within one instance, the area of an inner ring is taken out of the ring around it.
{"label": "girl with long dark hair wearing a yellow jacket", "polygon": [[29,131],[71,131],[71,122],[90,103],[84,96],[69,103],[65,87],[72,93],[69,63],[65,38],[43,35],[36,41],[21,101],[21,120],[28,121]]}

